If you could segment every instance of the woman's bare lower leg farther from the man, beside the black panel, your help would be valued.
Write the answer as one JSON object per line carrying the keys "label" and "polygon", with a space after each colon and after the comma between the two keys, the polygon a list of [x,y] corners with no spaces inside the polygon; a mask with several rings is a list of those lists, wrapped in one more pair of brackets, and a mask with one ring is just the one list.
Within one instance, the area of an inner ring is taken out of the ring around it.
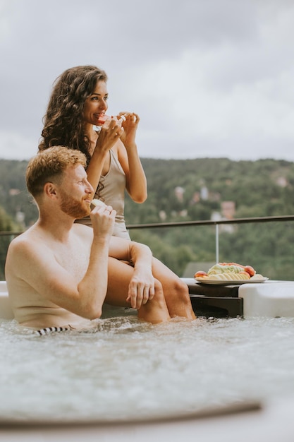
{"label": "woman's bare lower leg farther from the man, beside the black panel", "polygon": [[195,319],[188,285],[157,258],[153,258],[152,273],[164,289],[164,298],[171,318],[181,316],[190,320]]}

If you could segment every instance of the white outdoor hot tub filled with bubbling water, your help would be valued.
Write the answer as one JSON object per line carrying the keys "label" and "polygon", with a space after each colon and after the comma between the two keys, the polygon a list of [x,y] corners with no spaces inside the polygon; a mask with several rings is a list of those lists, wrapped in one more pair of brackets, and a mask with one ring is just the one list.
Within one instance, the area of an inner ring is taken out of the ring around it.
{"label": "white outdoor hot tub filled with bubbling water", "polygon": [[0,440],[292,442],[294,282],[185,282],[192,323],[116,310],[94,333],[44,336],[0,282]]}

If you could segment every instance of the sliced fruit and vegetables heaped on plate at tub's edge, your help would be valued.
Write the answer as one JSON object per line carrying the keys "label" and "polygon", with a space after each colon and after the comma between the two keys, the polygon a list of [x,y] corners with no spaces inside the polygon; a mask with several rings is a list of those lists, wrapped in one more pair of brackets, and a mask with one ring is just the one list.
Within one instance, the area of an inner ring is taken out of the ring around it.
{"label": "sliced fruit and vegetables heaped on plate at tub's edge", "polygon": [[199,281],[260,281],[263,279],[263,276],[257,274],[251,265],[238,263],[217,263],[209,268],[208,272],[197,271],[194,277]]}

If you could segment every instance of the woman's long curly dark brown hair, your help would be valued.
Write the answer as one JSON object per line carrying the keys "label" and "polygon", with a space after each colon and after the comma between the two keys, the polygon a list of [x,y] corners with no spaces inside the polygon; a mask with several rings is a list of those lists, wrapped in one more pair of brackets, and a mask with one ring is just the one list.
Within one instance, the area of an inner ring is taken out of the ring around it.
{"label": "woman's long curly dark brown hair", "polygon": [[107,81],[106,72],[90,65],[69,68],[56,78],[43,118],[39,150],[63,145],[80,150],[90,161],[90,142],[83,130],[82,112],[98,80]]}

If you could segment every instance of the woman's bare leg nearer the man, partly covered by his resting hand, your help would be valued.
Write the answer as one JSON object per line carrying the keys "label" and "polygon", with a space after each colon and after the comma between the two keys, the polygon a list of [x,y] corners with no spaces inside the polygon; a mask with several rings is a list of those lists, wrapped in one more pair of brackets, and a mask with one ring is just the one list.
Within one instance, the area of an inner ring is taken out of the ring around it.
{"label": "woman's bare leg nearer the man, partly covered by his resting hand", "polygon": [[[105,298],[107,304],[130,307],[130,303],[126,299],[133,271],[131,265],[109,257],[108,288]],[[138,317],[150,323],[161,323],[171,319],[164,299],[164,291],[159,281],[155,280],[154,297],[140,307]]]}

